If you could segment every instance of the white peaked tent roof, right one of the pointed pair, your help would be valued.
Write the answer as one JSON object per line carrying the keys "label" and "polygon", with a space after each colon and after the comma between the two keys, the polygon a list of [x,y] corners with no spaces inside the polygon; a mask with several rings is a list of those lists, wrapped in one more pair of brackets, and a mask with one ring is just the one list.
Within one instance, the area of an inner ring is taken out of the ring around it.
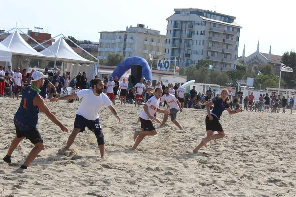
{"label": "white peaked tent roof, right one of the pointed pair", "polygon": [[[93,61],[87,60],[79,56],[71,47],[66,43],[66,41],[61,37],[53,45],[47,48],[52,53],[56,54],[57,60],[66,62],[79,62],[79,63],[95,63]],[[46,56],[54,58],[54,55],[48,50],[43,50],[40,53]]]}

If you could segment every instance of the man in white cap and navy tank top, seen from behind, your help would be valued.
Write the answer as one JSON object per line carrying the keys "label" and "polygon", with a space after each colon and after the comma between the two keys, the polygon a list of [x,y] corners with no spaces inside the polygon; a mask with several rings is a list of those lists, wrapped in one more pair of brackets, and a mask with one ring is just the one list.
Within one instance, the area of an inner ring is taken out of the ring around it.
{"label": "man in white cap and navy tank top, seen from behind", "polygon": [[40,89],[43,86],[44,78],[42,72],[35,71],[31,76],[32,84],[27,86],[22,94],[21,105],[14,116],[14,125],[16,130],[16,137],[12,140],[7,155],[3,160],[11,163],[12,152],[16,149],[18,144],[26,137],[35,146],[25,162],[20,167],[27,169],[27,166],[36,158],[36,156],[43,150],[43,139],[37,128],[38,113],[43,112],[52,122],[61,128],[62,131],[68,132],[68,129],[57,119],[57,117],[50,112],[43,98],[39,95]]}

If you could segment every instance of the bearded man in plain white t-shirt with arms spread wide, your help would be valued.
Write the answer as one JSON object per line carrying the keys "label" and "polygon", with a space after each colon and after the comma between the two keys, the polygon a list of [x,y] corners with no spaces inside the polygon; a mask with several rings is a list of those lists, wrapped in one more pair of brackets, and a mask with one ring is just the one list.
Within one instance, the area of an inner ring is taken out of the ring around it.
{"label": "bearded man in plain white t-shirt with arms spread wide", "polygon": [[77,94],[71,94],[60,98],[50,99],[50,102],[78,98],[82,99],[76,114],[74,129],[68,138],[66,147],[63,149],[63,152],[65,154],[70,154],[69,148],[73,144],[76,136],[79,132],[83,132],[85,130],[85,127],[88,127],[91,131],[95,133],[100,149],[101,158],[105,159],[105,141],[98,113],[102,106],[107,106],[112,114],[116,116],[119,122],[120,117],[116,109],[112,106],[110,99],[103,93],[103,89],[103,81],[101,79],[94,79],[92,82],[92,89],[83,89],[77,92]]}

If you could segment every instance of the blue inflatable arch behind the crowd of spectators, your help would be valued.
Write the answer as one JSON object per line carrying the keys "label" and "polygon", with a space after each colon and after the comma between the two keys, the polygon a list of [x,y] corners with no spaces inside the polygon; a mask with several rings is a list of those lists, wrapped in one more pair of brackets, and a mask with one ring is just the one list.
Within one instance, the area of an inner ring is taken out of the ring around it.
{"label": "blue inflatable arch behind the crowd of spectators", "polygon": [[142,65],[142,76],[145,77],[146,80],[152,81],[152,72],[148,62],[141,57],[131,57],[123,60],[119,65],[115,68],[112,73],[112,77],[117,76],[118,79],[129,69],[131,69],[132,65]]}

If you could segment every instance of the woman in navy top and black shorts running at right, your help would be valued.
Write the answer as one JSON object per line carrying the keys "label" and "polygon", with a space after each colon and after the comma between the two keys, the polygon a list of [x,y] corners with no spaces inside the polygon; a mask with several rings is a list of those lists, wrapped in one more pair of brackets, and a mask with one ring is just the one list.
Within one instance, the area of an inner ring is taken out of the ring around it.
{"label": "woman in navy top and black shorts running at right", "polygon": [[[221,98],[215,99],[206,104],[206,109],[208,115],[206,116],[206,129],[207,129],[207,137],[202,138],[200,144],[193,150],[194,153],[197,153],[199,149],[203,146],[207,147],[207,143],[213,139],[220,139],[225,136],[224,130],[219,122],[220,116],[222,112],[226,109],[228,113],[236,114],[241,110],[237,109],[236,111],[232,111],[229,108],[229,98],[228,91],[226,89],[222,90]],[[214,105],[212,112],[210,112],[210,106]],[[214,132],[217,131],[218,134],[214,135]]]}

